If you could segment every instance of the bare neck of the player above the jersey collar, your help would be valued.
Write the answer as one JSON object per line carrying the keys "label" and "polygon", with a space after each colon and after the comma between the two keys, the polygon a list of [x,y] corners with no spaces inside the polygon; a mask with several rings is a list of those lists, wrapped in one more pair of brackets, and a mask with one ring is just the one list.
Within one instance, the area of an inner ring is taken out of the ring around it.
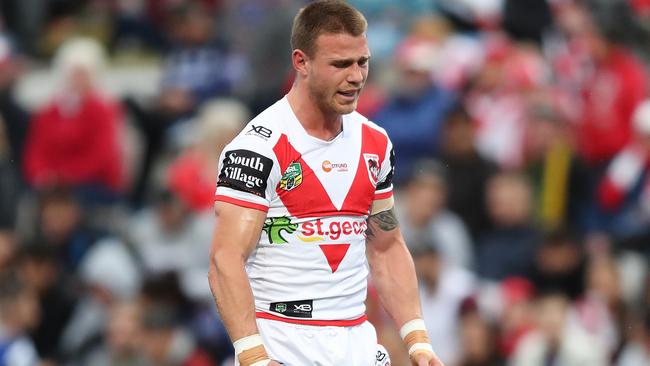
{"label": "bare neck of the player above the jersey collar", "polygon": [[323,111],[306,88],[294,84],[287,94],[287,100],[298,122],[310,136],[330,141],[341,133],[341,115]]}

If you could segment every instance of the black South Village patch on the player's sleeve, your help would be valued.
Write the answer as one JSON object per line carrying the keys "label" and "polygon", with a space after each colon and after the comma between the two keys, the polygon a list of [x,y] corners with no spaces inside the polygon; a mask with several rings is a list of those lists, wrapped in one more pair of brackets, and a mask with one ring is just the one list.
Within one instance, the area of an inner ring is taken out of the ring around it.
{"label": "black South Village patch on the player's sleeve", "polygon": [[266,181],[273,161],[250,150],[228,151],[217,185],[265,197]]}

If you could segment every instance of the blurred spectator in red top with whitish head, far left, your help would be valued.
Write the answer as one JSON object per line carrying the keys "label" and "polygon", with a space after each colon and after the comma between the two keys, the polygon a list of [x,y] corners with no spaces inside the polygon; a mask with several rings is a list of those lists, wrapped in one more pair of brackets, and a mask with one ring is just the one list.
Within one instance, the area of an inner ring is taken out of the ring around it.
{"label": "blurred spectator in red top with whitish head, far left", "polygon": [[61,85],[30,123],[23,164],[28,183],[120,192],[122,113],[96,82],[102,49],[92,40],[71,40],[54,62]]}

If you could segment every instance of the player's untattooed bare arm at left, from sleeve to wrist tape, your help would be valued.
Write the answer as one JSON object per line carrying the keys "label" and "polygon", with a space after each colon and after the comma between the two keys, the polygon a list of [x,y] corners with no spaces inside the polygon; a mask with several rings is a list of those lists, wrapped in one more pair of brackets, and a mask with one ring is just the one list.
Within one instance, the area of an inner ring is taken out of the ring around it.
{"label": "player's untattooed bare arm at left, from sleeve to wrist tape", "polygon": [[221,319],[233,341],[256,334],[253,292],[244,270],[255,249],[266,214],[217,202],[208,280]]}

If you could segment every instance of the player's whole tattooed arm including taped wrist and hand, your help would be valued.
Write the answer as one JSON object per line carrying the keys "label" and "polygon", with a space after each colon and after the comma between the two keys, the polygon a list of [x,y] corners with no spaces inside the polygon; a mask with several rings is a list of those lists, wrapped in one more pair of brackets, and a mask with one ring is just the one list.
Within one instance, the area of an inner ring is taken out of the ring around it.
{"label": "player's whole tattooed arm including taped wrist and hand", "polygon": [[366,230],[366,254],[379,298],[400,328],[412,365],[442,366],[422,321],[413,258],[393,210],[393,198],[373,203]]}

